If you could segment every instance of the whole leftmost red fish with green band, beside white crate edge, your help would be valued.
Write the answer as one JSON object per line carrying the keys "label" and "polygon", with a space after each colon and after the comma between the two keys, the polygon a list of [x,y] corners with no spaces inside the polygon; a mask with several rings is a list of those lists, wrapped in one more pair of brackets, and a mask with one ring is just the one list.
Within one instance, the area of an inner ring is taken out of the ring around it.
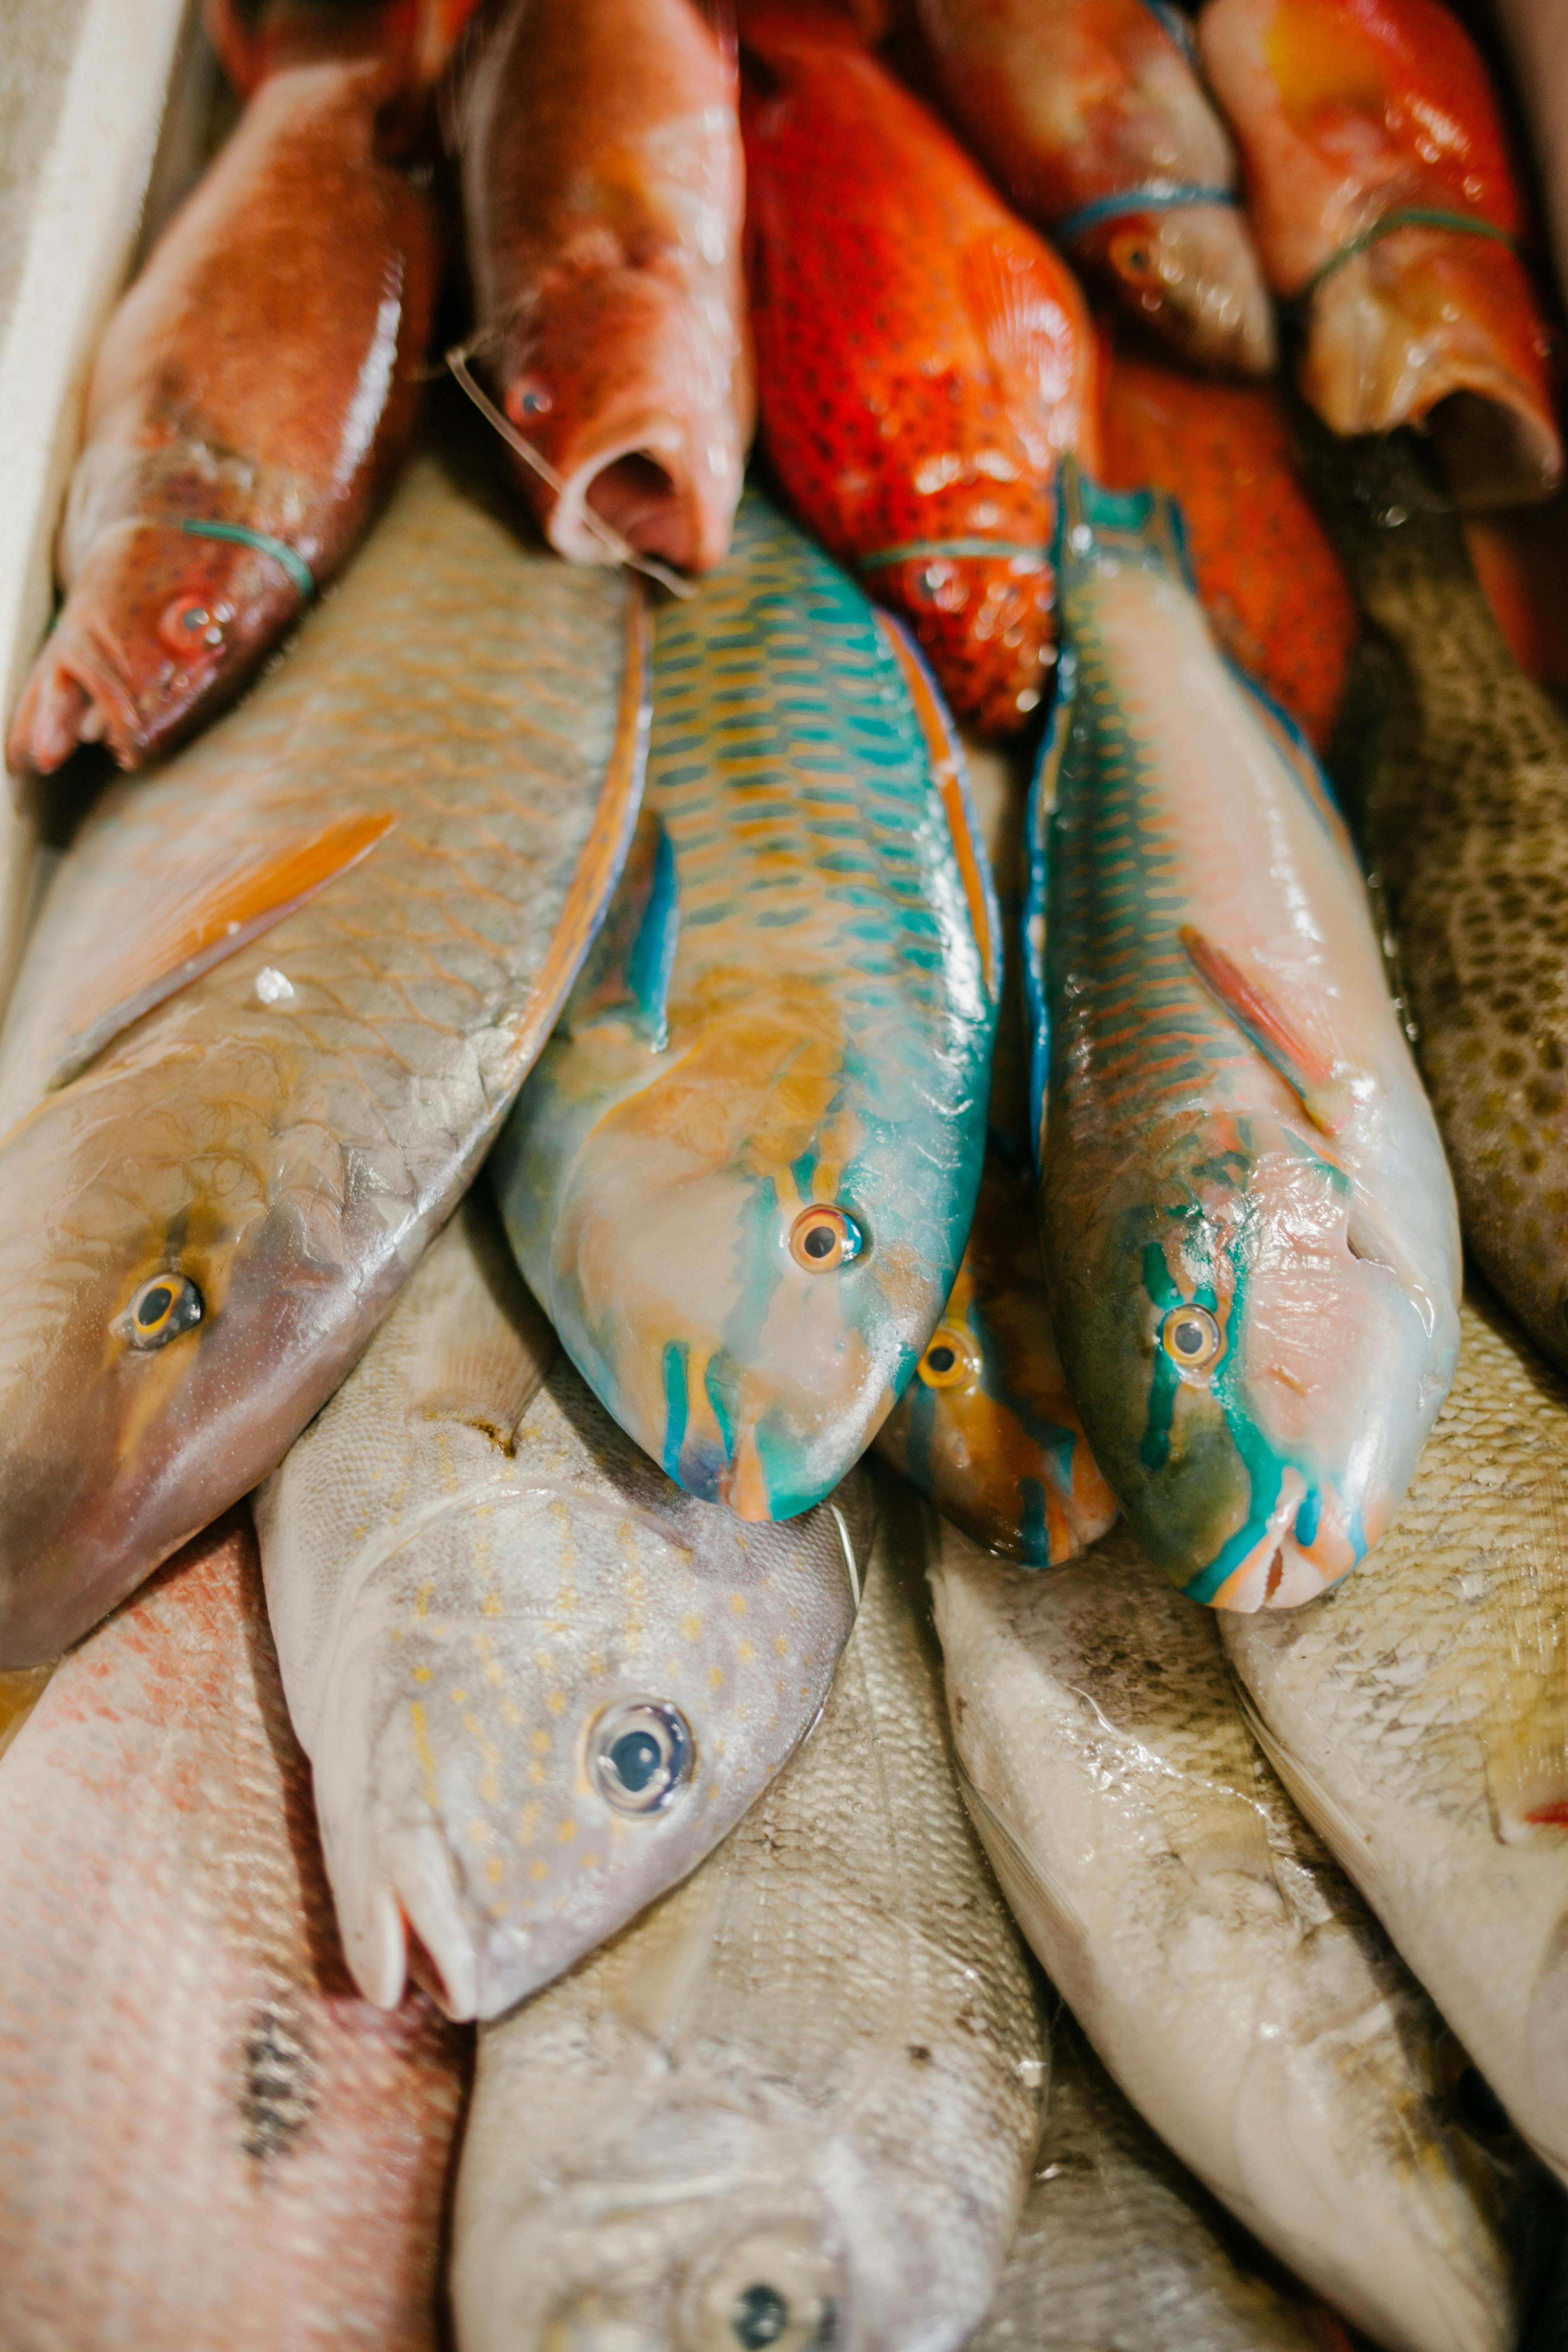
{"label": "whole leftmost red fish with green band, beside white crate edge", "polygon": [[167,750],[364,529],[437,273],[433,205],[376,146],[393,89],[376,61],[273,75],[110,320],[14,769]]}

